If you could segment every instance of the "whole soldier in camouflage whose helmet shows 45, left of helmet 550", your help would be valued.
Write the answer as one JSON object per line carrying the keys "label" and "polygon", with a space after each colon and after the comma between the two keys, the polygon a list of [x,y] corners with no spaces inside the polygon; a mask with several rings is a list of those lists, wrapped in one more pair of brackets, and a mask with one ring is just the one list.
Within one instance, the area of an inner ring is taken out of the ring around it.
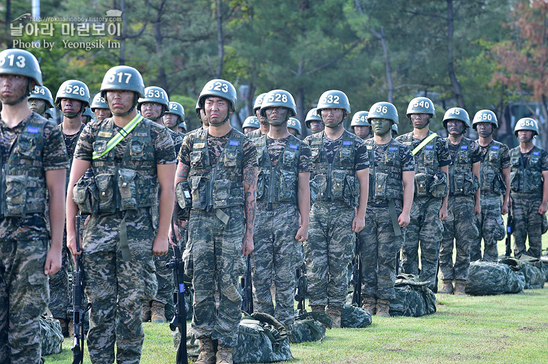
{"label": "whole soldier in camouflage whose helmet shows 45, left of helmet 550", "polygon": [[[443,220],[443,239],[440,246],[440,271],[443,287],[440,294],[464,295],[470,246],[478,235],[475,215],[481,213],[479,205],[479,168],[482,154],[479,145],[464,138],[470,118],[466,110],[451,107],[443,116],[443,127],[447,129],[447,147],[453,164],[449,166],[449,199],[447,218]],[[453,265],[453,241],[456,261]],[[453,288],[453,279],[455,287]]]}

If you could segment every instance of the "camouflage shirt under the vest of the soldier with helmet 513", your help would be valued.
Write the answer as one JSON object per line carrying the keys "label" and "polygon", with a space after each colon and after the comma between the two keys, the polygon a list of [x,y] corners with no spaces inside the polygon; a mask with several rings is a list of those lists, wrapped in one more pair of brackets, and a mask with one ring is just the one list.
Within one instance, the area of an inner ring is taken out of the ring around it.
{"label": "camouflage shirt under the vest of the soldier with helmet 513", "polygon": [[[42,118],[32,113],[16,127],[9,128],[0,120],[0,143],[3,159],[7,160],[11,154],[15,140],[21,134],[31,118]],[[43,168],[58,170],[69,168],[69,159],[66,155],[63,135],[54,122],[48,121],[44,128],[44,149],[42,150]],[[45,216],[43,213],[32,213],[26,218],[3,218],[0,220],[0,239],[32,240],[49,239]]]}

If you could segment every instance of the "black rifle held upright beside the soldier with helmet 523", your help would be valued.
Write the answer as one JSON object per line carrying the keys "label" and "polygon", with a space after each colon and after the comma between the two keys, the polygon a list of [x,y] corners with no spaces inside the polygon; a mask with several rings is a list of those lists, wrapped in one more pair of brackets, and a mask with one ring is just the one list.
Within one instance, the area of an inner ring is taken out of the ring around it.
{"label": "black rifle held upright beside the soldier with helmet 523", "polygon": [[188,356],[186,354],[186,307],[184,305],[184,261],[179,249],[177,237],[175,237],[175,226],[173,226],[173,218],[171,219],[171,238],[175,242],[173,248],[173,258],[166,264],[166,268],[173,270],[173,306],[175,314],[173,320],[169,323],[171,331],[179,328],[181,341],[177,348],[177,364],[188,364]]}

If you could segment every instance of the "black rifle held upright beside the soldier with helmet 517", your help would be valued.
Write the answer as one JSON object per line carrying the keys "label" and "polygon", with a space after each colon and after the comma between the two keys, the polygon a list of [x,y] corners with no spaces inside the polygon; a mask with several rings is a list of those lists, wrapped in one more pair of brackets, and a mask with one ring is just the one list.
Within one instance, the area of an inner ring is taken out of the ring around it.
{"label": "black rifle held upright beside the soldier with helmet 517", "polygon": [[[80,251],[80,219],[77,215],[75,219],[76,227],[76,251]],[[85,309],[82,309],[82,283],[84,276],[82,274],[82,263],[80,256],[75,256],[76,266],[73,272],[73,323],[74,323],[74,339],[73,339],[73,364],[84,363],[84,315],[91,308],[91,303]]]}

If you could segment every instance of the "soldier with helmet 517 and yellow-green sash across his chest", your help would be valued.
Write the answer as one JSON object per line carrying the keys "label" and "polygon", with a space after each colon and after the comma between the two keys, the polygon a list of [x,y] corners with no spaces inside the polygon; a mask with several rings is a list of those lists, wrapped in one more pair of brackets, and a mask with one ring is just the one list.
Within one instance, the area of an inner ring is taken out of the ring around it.
{"label": "soldier with helmet 517 and yellow-green sash across his chest", "polygon": [[[141,302],[158,289],[153,255],[168,250],[175,148],[166,127],[137,114],[138,98],[145,96],[138,70],[110,68],[101,94],[113,116],[90,122],[80,134],[66,198],[66,240],[73,255],[82,254],[92,304],[91,362],[113,363],[116,345],[116,361],[138,363],[145,339]],[[81,179],[88,168],[93,176]],[[91,213],[80,252],[77,209]]]}

